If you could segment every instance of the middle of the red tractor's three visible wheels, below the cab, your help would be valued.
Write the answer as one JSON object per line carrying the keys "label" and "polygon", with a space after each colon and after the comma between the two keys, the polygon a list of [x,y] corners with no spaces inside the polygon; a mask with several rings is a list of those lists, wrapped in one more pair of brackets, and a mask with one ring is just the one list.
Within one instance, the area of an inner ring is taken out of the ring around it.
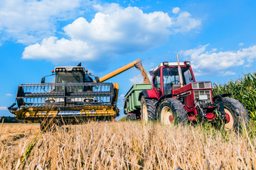
{"label": "middle of the red tractor's three visible wheels, below the cab", "polygon": [[157,119],[164,125],[172,123],[188,123],[188,114],[181,103],[176,98],[165,98],[157,107]]}

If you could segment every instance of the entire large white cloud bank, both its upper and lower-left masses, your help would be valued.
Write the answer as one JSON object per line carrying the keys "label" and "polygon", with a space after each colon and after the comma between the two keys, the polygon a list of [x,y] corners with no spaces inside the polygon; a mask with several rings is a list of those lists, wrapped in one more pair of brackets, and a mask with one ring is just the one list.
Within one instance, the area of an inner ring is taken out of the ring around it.
{"label": "entire large white cloud bank, both its upper and lower-left masses", "polygon": [[[191,26],[196,20],[187,12],[185,16],[181,12],[176,18],[171,18],[161,11],[144,13],[140,8],[122,8],[118,4],[95,5],[94,8],[99,12],[90,23],[80,17],[63,28],[70,40],[45,38],[40,44],[26,47],[23,59],[46,59],[51,62],[68,59],[68,62],[77,62],[143,52],[166,42],[171,30],[175,33],[187,32],[198,26]],[[82,46],[80,49],[72,50],[79,45]]]}

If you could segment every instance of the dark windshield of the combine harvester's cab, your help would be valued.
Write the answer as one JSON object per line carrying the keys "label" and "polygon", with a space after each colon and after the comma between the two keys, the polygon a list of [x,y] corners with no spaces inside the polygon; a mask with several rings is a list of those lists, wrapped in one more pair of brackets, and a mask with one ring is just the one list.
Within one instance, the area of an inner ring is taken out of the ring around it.
{"label": "dark windshield of the combine harvester's cab", "polygon": [[82,72],[58,72],[56,83],[83,83]]}

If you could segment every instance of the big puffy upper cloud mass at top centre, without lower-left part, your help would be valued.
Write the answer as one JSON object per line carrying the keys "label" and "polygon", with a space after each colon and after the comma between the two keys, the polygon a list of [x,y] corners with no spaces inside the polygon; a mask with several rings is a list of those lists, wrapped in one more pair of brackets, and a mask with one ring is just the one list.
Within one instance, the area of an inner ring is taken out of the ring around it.
{"label": "big puffy upper cloud mass at top centre, without lower-left part", "polygon": [[65,33],[72,40],[100,44],[102,50],[114,53],[144,51],[168,40],[171,18],[167,13],[143,13],[137,7],[122,8],[118,4],[98,5],[97,9],[100,12],[91,23],[78,18],[65,26]]}

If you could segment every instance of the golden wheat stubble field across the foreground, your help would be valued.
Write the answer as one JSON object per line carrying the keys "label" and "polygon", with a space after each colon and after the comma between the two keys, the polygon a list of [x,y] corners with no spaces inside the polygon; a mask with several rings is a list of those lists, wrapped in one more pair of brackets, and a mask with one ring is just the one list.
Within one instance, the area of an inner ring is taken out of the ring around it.
{"label": "golden wheat stubble field across the foreground", "polygon": [[256,169],[255,130],[90,122],[2,124],[1,169]]}

